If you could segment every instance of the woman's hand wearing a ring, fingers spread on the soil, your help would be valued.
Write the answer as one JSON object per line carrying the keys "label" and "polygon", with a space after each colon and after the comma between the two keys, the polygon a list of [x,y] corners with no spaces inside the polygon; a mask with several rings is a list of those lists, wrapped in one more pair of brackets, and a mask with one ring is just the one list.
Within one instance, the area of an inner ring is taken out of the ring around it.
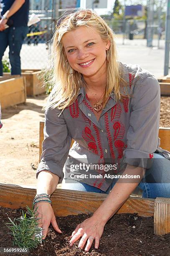
{"label": "woman's hand wearing a ring, fingers spread on the soil", "polygon": [[85,243],[85,251],[89,251],[93,241],[95,241],[94,247],[97,249],[99,247],[99,240],[104,230],[104,225],[99,220],[94,220],[93,217],[90,217],[84,220],[82,223],[77,225],[76,229],[73,231],[70,240],[70,246],[72,246],[81,236],[79,242],[79,248],[83,248]]}

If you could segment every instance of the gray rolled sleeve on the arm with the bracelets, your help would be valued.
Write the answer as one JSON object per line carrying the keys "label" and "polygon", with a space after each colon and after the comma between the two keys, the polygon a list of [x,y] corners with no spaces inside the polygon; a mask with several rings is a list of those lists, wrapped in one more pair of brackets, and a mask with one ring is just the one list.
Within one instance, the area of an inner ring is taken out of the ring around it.
{"label": "gray rolled sleeve on the arm with the bracelets", "polygon": [[43,170],[52,172],[59,177],[58,183],[63,180],[63,166],[71,145],[71,136],[63,114],[59,116],[60,113],[61,110],[57,108],[49,108],[45,112],[43,152],[36,172],[36,178],[39,172]]}

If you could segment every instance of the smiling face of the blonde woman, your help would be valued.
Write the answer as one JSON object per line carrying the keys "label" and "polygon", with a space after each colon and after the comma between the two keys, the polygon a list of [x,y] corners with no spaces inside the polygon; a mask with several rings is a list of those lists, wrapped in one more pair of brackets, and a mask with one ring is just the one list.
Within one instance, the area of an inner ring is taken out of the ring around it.
{"label": "smiling face of the blonde woman", "polygon": [[96,28],[76,28],[62,37],[62,43],[70,66],[85,77],[106,72],[110,41],[103,41]]}

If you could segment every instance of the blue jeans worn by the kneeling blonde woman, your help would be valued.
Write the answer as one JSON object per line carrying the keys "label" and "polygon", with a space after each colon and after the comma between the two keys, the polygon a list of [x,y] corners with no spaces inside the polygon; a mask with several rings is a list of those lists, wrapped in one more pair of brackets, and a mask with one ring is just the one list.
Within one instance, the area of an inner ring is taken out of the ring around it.
{"label": "blue jeans worn by the kneeling blonde woman", "polygon": [[[114,179],[106,192],[83,182],[64,183],[62,189],[72,189],[109,194],[118,179]],[[126,186],[126,183],[124,183]],[[170,197],[170,160],[166,159],[162,153],[154,153],[152,167],[146,170],[145,176],[138,185],[142,189],[142,197]]]}

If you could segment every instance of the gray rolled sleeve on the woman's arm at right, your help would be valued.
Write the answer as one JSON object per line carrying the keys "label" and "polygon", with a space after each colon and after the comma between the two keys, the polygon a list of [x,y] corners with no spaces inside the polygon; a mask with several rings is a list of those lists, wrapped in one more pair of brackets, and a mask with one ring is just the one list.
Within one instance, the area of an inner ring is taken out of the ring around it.
{"label": "gray rolled sleeve on the woman's arm at right", "polygon": [[134,85],[130,109],[124,161],[148,169],[157,149],[160,122],[160,85],[154,76]]}

